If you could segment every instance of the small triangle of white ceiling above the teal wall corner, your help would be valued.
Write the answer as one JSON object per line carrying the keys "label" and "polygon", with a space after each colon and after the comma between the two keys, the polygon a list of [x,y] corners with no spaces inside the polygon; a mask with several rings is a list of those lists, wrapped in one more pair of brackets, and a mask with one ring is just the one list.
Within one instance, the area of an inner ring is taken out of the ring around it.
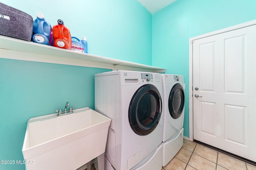
{"label": "small triangle of white ceiling above the teal wall corner", "polygon": [[176,0],[138,0],[151,14],[170,5],[174,1]]}

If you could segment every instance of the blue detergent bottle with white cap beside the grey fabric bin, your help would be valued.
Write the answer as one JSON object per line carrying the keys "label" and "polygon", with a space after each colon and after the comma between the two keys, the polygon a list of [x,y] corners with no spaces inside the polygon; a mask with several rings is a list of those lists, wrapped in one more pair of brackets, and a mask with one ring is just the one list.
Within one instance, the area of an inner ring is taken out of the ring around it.
{"label": "blue detergent bottle with white cap beside the grey fabric bin", "polygon": [[32,41],[35,43],[52,45],[52,26],[44,19],[44,15],[40,12],[36,13],[34,20]]}

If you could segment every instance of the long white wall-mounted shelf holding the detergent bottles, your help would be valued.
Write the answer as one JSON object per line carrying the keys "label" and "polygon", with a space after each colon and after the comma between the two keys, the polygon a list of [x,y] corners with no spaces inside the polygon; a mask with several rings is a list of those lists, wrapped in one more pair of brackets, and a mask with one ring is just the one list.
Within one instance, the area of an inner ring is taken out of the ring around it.
{"label": "long white wall-mounted shelf holding the detergent bottles", "polygon": [[165,72],[164,68],[110,59],[97,55],[77,53],[3,35],[0,35],[0,58],[107,68],[112,70]]}

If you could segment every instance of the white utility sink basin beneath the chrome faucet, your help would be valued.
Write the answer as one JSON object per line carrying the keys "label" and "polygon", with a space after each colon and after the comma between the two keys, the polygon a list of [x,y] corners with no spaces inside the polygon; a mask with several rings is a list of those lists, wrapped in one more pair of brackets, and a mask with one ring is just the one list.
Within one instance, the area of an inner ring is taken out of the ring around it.
{"label": "white utility sink basin beneath the chrome faucet", "polygon": [[85,107],[28,120],[22,153],[26,169],[76,170],[103,154],[111,119]]}

